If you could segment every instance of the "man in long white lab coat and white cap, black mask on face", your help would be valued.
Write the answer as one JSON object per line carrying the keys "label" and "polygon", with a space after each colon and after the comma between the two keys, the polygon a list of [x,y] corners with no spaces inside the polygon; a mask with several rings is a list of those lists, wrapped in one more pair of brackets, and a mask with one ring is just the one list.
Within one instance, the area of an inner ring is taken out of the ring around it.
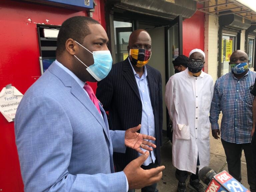
{"label": "man in long white lab coat and white cap, black mask on face", "polygon": [[178,192],[188,188],[204,191],[198,172],[210,162],[209,111],[213,97],[213,79],[202,71],[205,54],[200,49],[189,53],[188,68],[170,77],[165,102],[173,122],[172,162],[177,168]]}

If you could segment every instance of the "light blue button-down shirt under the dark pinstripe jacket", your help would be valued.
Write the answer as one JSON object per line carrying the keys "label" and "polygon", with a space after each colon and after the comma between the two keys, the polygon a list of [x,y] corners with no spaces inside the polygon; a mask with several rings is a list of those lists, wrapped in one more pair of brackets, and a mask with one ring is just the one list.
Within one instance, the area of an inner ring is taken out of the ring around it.
{"label": "light blue button-down shirt under the dark pinstripe jacket", "polygon": [[[129,60],[130,62],[130,60]],[[130,65],[132,67],[132,64],[130,62]],[[155,119],[154,119],[154,113],[153,113],[153,108],[151,106],[151,101],[150,101],[150,94],[149,94],[149,85],[148,85],[148,80],[147,80],[147,69],[144,66],[144,73],[143,75],[139,76],[139,74],[137,74],[135,72],[135,70],[133,69],[133,73],[137,82],[137,86],[139,89],[139,93],[140,93],[140,100],[141,100],[141,104],[142,104],[142,118],[141,118],[141,128],[140,128],[140,133],[141,134],[146,134],[146,135],[150,135],[153,137],[156,137],[155,135]],[[155,144],[155,142],[151,141],[152,143]],[[144,149],[142,149],[143,151],[146,151]],[[141,154],[139,153],[139,156]],[[149,157],[147,158],[147,160],[143,163],[143,165],[147,166],[150,163],[155,163],[156,157],[155,157],[155,153],[154,150],[150,152]]]}

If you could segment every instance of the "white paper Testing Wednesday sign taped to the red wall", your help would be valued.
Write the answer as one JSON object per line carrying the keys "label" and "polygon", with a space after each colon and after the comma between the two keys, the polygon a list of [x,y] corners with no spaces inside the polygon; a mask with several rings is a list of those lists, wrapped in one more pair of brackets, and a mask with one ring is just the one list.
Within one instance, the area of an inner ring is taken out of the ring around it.
{"label": "white paper Testing Wednesday sign taped to the red wall", "polygon": [[14,86],[10,89],[5,87],[0,92],[0,112],[8,122],[13,121],[17,111],[17,107],[23,95]]}

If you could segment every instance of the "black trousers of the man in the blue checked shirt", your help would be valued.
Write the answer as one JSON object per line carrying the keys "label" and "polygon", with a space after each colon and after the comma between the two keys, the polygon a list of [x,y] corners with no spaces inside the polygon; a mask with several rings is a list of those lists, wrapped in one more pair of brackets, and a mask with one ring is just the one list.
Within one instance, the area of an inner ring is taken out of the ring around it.
{"label": "black trousers of the man in the blue checked shirt", "polygon": [[252,165],[252,153],[251,153],[251,143],[236,144],[226,142],[221,139],[228,163],[228,172],[237,181],[241,182],[241,157],[242,151],[244,150],[246,166],[247,166],[247,178],[248,184],[250,185],[250,190],[255,190],[255,178],[253,173]]}

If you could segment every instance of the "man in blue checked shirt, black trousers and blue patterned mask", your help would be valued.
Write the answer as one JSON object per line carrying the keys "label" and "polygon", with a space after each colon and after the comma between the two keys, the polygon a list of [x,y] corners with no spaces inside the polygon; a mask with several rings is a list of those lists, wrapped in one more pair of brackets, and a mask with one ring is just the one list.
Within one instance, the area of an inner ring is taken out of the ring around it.
{"label": "man in blue checked shirt, black trousers and blue patterned mask", "polygon": [[[255,192],[251,155],[252,102],[256,73],[248,68],[248,55],[236,50],[230,56],[231,72],[217,79],[214,86],[210,109],[212,136],[219,139],[227,157],[228,171],[241,182],[241,156],[244,150],[248,184],[251,192]],[[223,117],[219,129],[218,119],[222,111]]]}

